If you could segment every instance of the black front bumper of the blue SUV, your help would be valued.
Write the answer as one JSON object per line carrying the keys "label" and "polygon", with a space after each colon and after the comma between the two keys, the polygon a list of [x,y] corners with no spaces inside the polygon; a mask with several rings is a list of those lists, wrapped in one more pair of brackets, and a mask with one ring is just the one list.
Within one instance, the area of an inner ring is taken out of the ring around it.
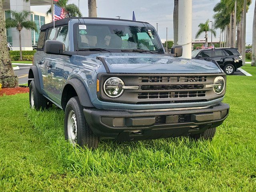
{"label": "black front bumper of the blue SUV", "polygon": [[162,110],[103,110],[84,108],[90,128],[102,139],[147,140],[186,136],[222,124],[229,105]]}

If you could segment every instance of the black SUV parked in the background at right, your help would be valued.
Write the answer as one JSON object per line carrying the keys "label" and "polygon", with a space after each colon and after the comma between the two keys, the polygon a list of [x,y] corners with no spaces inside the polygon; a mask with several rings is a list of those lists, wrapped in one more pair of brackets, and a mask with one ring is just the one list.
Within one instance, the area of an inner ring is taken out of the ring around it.
{"label": "black SUV parked in the background at right", "polygon": [[236,48],[216,48],[192,51],[192,58],[215,60],[227,75],[243,66],[242,56]]}

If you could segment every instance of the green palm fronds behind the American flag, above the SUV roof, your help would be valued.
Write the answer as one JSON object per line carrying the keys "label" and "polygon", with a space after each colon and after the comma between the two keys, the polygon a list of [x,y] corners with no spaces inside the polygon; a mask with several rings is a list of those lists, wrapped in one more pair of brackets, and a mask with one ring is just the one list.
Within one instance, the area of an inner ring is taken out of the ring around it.
{"label": "green palm fronds behind the American flag, above the SUV roof", "polygon": [[[68,4],[68,0],[58,0],[56,3],[58,6],[64,8],[65,10],[65,17],[82,17],[82,13],[80,12],[80,9],[76,4]],[[46,12],[46,15],[52,14],[52,8],[49,8],[49,10]]]}

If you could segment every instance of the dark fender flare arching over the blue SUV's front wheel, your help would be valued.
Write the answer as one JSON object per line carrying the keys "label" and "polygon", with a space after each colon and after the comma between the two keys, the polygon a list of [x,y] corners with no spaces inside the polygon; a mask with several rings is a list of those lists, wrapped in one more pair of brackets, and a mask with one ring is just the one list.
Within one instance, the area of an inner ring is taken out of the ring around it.
{"label": "dark fender flare arching over the blue SUV's front wheel", "polygon": [[73,78],[73,79],[70,79],[66,82],[66,84],[64,86],[64,89],[62,91],[62,97],[61,97],[62,108],[63,108],[64,102],[66,101],[65,98],[64,98],[64,94],[66,94],[65,93],[65,88],[68,85],[71,85],[74,88],[82,106],[84,106],[84,107],[94,107],[94,105],[91,102],[90,96],[89,96],[84,84],[82,83],[82,81],[77,79],[77,78]]}

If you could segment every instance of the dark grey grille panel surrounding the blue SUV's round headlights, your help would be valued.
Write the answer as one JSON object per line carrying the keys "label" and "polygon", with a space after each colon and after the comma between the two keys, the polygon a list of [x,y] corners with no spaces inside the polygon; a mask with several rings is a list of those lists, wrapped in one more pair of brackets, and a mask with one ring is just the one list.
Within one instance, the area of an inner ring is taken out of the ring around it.
{"label": "dark grey grille panel surrounding the blue SUV's round headlights", "polygon": [[206,85],[213,84],[220,74],[104,74],[99,77],[101,87],[107,78],[116,76],[127,86],[138,86],[138,90],[124,90],[118,98],[109,98],[103,89],[98,93],[100,100],[127,104],[168,104],[204,102],[222,97]]}

